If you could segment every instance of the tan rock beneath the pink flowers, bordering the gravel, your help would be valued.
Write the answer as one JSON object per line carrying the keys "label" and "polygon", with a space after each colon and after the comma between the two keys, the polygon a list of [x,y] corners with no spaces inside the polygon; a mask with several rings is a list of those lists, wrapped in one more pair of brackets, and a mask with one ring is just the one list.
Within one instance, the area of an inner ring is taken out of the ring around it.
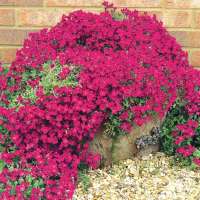
{"label": "tan rock beneath the pink flowers, bordering the gravel", "polygon": [[159,149],[157,144],[150,145],[148,148],[141,150],[137,148],[136,141],[142,136],[150,136],[152,129],[160,125],[161,120],[155,118],[142,126],[134,126],[129,134],[125,136],[120,135],[116,139],[106,136],[103,128],[101,128],[90,143],[89,151],[99,153],[102,156],[101,166],[107,166],[120,160],[131,159],[137,155],[153,153]]}

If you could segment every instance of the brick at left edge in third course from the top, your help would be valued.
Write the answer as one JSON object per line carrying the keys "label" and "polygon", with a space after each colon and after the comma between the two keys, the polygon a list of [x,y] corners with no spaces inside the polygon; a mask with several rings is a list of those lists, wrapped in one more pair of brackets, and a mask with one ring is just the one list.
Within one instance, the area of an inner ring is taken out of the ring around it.
{"label": "brick at left edge in third course from the top", "polygon": [[29,32],[36,30],[0,29],[0,44],[22,45]]}

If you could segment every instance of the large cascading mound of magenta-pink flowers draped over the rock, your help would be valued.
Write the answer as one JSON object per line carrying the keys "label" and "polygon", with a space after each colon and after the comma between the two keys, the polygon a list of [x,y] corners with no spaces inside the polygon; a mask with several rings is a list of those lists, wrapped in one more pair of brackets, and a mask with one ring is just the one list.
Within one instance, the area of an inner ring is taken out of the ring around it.
{"label": "large cascading mound of magenta-pink flowers draped over the rock", "polygon": [[104,5],[31,33],[0,67],[2,199],[71,199],[109,120],[117,136],[166,118],[163,149],[200,165],[200,72],[155,16]]}

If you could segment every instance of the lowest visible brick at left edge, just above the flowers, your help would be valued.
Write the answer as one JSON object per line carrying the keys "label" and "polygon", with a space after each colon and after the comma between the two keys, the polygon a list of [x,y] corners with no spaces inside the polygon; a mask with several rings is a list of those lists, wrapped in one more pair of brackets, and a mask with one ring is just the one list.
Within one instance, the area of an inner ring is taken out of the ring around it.
{"label": "lowest visible brick at left edge, just above the flowers", "polygon": [[2,63],[11,63],[16,54],[17,48],[0,48],[0,60]]}

